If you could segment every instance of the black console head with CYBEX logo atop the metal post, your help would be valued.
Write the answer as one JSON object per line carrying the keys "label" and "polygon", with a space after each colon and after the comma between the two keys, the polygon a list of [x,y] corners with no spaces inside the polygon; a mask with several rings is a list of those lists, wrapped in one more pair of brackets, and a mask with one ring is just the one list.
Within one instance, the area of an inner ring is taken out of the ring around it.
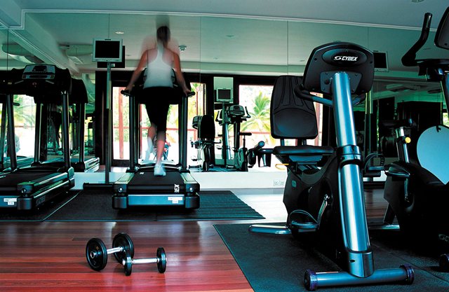
{"label": "black console head with CYBEX logo atop the metal post", "polygon": [[326,43],[316,47],[304,70],[303,88],[330,95],[331,78],[342,71],[349,75],[351,94],[361,95],[370,91],[374,78],[373,53],[354,43]]}

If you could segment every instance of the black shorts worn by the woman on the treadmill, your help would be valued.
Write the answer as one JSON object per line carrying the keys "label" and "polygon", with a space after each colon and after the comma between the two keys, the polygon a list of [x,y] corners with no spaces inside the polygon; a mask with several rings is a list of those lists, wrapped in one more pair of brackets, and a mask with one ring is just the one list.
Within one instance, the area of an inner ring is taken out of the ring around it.
{"label": "black shorts worn by the woman on the treadmill", "polygon": [[149,121],[157,127],[157,131],[167,130],[167,113],[170,107],[168,97],[175,94],[173,88],[154,87],[145,88],[140,102],[145,104]]}

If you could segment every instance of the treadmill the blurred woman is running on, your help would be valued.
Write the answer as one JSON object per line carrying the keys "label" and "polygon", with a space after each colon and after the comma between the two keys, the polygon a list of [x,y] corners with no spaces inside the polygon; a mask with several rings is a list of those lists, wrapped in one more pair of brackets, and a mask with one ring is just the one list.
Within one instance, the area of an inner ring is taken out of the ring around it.
{"label": "treadmill the blurred woman is running on", "polygon": [[[166,176],[154,176],[154,164],[138,163],[138,106],[141,89],[129,94],[130,118],[130,166],[127,172],[113,184],[112,207],[167,206],[185,209],[199,208],[199,183],[187,169],[187,98],[183,97],[179,111],[180,165],[164,164]],[[122,92],[128,95],[127,92]],[[181,95],[182,93],[180,93]]]}

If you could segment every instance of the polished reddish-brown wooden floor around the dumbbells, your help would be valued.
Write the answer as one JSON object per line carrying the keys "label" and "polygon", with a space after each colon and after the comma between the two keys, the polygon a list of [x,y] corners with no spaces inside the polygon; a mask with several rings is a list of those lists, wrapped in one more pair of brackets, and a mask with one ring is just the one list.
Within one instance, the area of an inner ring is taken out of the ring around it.
{"label": "polished reddish-brown wooden floor around the dumbbells", "polygon": [[[282,190],[232,190],[265,218],[286,220]],[[368,216],[386,207],[381,191],[366,191]],[[253,291],[213,227],[248,221],[41,222],[0,223],[0,291]],[[86,242],[99,237],[106,246],[126,232],[135,244],[134,258],[154,257],[158,246],[167,253],[167,270],[134,265],[126,277],[109,256],[105,270],[86,263]]]}

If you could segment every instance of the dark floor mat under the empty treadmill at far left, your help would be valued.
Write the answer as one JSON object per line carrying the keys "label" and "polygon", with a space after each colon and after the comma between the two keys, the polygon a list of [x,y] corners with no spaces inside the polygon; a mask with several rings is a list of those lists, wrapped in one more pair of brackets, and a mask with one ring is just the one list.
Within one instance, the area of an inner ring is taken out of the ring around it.
{"label": "dark floor mat under the empty treadmill at far left", "polygon": [[45,202],[41,204],[38,208],[32,210],[20,210],[15,208],[2,208],[0,210],[0,222],[1,221],[44,221],[46,218],[51,216],[63,207],[65,204],[70,202],[79,191],[69,192],[67,195],[59,195],[53,198],[50,202]]}

